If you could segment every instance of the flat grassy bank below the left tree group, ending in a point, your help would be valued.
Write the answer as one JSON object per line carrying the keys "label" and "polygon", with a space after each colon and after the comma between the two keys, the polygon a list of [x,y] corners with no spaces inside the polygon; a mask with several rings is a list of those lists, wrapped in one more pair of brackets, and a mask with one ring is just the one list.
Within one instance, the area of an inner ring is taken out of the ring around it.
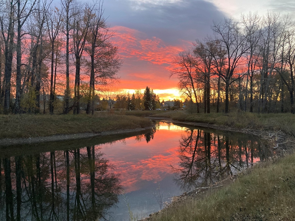
{"label": "flat grassy bank below the left tree group, ending in a point", "polygon": [[146,118],[96,113],[79,115],[0,115],[0,139],[29,138],[77,133],[99,133],[109,130],[151,126]]}

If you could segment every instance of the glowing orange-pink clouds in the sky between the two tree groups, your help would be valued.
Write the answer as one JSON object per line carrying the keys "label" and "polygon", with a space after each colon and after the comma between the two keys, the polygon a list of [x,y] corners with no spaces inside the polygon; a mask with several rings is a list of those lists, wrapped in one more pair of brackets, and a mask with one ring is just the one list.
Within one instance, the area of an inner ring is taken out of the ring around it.
{"label": "glowing orange-pink clouds in the sky between the two tree groups", "polygon": [[[178,79],[170,78],[170,69],[173,58],[187,48],[191,43],[179,41],[179,45],[170,45],[157,37],[147,37],[135,29],[123,26],[112,27],[116,34],[112,41],[119,48],[119,55],[124,59],[120,70],[120,88],[134,90],[176,88]],[[161,99],[179,98],[178,90],[171,91],[166,96],[162,93]]]}

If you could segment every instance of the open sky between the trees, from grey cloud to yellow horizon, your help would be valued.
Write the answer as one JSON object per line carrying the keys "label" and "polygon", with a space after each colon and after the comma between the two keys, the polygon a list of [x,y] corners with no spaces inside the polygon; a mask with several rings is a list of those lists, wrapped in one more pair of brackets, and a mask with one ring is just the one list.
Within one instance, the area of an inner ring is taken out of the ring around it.
{"label": "open sky between the trees, from grey cloud to yellow horizon", "polygon": [[104,0],[103,8],[116,31],[113,44],[124,60],[117,89],[132,94],[148,86],[161,100],[179,98],[177,76],[170,77],[171,62],[196,39],[212,36],[213,21],[239,19],[249,11],[295,18],[294,0]]}

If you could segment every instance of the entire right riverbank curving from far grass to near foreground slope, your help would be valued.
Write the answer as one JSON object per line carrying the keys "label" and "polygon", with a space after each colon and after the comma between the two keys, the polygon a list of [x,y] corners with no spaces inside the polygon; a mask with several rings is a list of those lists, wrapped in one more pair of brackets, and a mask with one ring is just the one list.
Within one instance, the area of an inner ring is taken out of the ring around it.
{"label": "entire right riverbank curving from far grass to near foreground slope", "polygon": [[[167,111],[156,118],[187,125],[255,134],[268,141],[277,155],[251,169],[175,197],[168,207],[143,220],[295,220],[295,154],[293,114],[187,114]],[[217,188],[215,188],[217,187]]]}

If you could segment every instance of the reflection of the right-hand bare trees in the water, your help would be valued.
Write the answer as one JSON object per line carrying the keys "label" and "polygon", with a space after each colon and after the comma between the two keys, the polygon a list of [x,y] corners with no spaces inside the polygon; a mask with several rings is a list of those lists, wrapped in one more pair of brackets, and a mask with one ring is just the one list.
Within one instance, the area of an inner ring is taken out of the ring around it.
{"label": "reflection of the right-hand bare trees in the water", "polygon": [[247,136],[213,134],[187,129],[179,141],[176,181],[185,190],[208,186],[253,164],[271,153],[259,141]]}

